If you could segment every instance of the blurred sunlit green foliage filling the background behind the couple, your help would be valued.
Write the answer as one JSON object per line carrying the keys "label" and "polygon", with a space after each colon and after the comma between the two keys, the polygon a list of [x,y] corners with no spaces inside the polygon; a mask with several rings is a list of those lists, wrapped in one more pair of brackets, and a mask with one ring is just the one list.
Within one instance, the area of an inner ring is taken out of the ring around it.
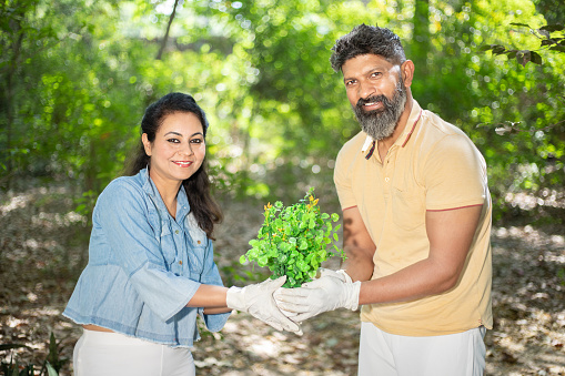
{"label": "blurred sunlit green foliage filling the background behind the couple", "polygon": [[[157,60],[171,7],[0,4],[1,187],[18,174],[71,179],[89,192],[87,214],[139,143],[144,108],[183,91],[209,115],[222,192],[292,200],[296,186],[326,189],[339,149],[359,132],[331,47],[361,22],[401,37],[414,98],[483,152],[497,212],[508,193],[565,184],[563,35],[546,26],[563,24],[563,11],[551,1],[185,1]],[[514,51],[519,63],[507,59]]]}

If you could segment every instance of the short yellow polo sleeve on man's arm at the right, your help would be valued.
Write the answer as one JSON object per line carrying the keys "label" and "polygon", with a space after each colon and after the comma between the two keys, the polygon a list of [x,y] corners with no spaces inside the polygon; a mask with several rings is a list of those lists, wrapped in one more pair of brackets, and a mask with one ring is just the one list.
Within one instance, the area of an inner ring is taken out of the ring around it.
{"label": "short yellow polo sleeve on man's arm at the right", "polygon": [[486,165],[470,139],[451,134],[441,139],[424,157],[426,210],[481,205],[488,194]]}

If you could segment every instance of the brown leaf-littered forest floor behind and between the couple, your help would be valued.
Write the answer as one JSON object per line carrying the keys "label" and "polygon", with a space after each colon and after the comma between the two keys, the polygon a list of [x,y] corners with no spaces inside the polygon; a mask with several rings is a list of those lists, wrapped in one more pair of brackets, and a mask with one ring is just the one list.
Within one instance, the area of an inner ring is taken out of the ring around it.
{"label": "brown leaf-littered forest floor behind and between the couple", "polygon": [[[81,329],[61,312],[87,261],[89,230],[64,186],[0,193],[0,350],[40,368],[50,334],[59,356],[72,359]],[[258,281],[239,264],[256,236],[264,203],[223,203],[216,263],[226,285]],[[324,207],[325,212],[336,209]],[[563,226],[495,227],[494,328],[485,337],[487,375],[565,375],[565,231]],[[326,267],[337,267],[330,261]],[[239,275],[245,275],[243,281]],[[234,314],[221,333],[202,331],[194,346],[198,375],[355,375],[359,313],[340,309],[303,324],[302,336],[276,332]],[[68,360],[61,375],[71,375]]]}

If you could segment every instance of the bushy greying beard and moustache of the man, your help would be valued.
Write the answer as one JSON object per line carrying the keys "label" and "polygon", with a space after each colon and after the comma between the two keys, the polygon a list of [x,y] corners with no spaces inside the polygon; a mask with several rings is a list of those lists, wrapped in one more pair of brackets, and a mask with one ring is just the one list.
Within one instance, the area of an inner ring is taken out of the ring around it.
{"label": "bushy greying beard and moustache of the man", "polygon": [[[365,103],[375,102],[382,102],[384,109],[369,112],[364,110]],[[392,100],[389,100],[385,95],[372,95],[366,99],[362,98],[357,101],[353,110],[363,132],[372,136],[373,140],[383,140],[390,138],[394,133],[405,105],[406,90],[404,89],[404,81],[401,77],[396,83]]]}

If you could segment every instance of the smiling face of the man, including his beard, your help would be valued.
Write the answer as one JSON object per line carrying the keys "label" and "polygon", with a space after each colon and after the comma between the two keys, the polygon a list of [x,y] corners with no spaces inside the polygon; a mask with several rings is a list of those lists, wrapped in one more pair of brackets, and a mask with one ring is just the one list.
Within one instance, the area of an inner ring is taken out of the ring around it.
{"label": "smiling face of the man, including his beard", "polygon": [[390,138],[406,104],[400,65],[376,54],[363,54],[347,60],[342,71],[361,129],[374,140]]}

